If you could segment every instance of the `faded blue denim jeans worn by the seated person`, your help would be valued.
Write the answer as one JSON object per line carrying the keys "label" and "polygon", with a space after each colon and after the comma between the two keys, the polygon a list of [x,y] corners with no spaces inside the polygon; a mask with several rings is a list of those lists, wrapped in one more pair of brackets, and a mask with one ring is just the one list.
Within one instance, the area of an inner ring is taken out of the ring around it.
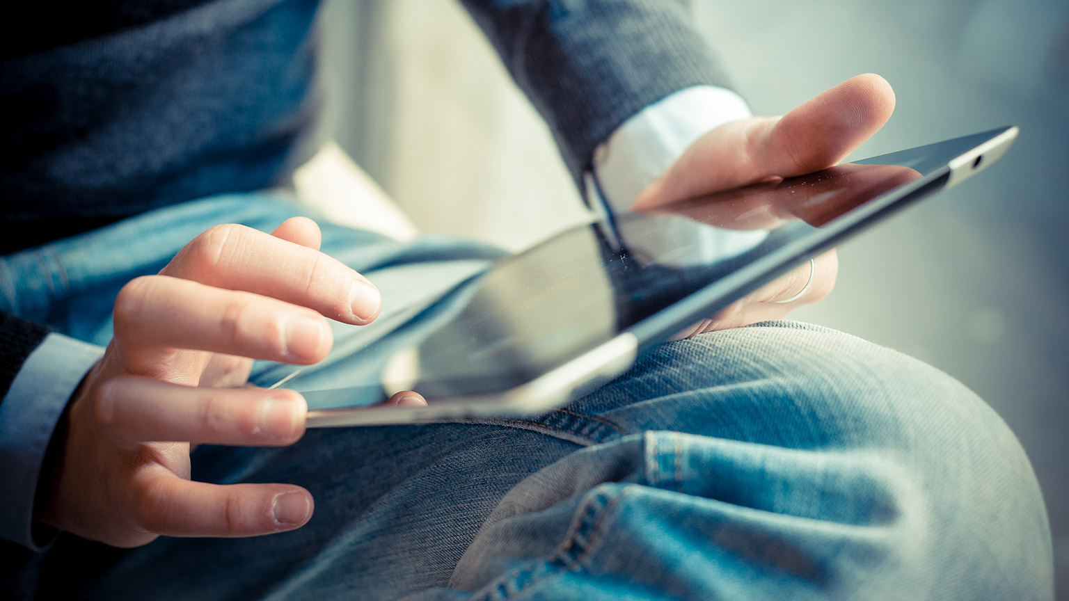
{"label": "faded blue denim jeans worn by the seated person", "polygon": [[[103,344],[119,288],[201,231],[269,231],[301,213],[262,194],[172,206],[5,258],[0,283],[24,317]],[[497,256],[321,226],[323,249],[378,284],[384,311],[338,326],[336,354],[351,358],[301,372],[298,389],[377,369]],[[252,380],[288,370],[258,364]],[[540,416],[202,446],[192,468],[304,486],[315,514],[291,533],[133,550],[63,535],[26,587],[199,601],[1053,598],[1039,488],[998,416],[915,359],[793,322],[662,344]]]}

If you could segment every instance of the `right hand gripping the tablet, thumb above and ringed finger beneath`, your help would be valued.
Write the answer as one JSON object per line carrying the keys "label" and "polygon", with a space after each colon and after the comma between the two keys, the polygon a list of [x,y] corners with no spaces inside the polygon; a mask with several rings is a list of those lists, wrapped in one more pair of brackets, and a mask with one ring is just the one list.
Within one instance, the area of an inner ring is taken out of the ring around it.
{"label": "right hand gripping the tablet, thumb above and ringed finger beneath", "polygon": [[[832,88],[783,117],[755,117],[724,124],[691,145],[639,195],[634,209],[656,211],[687,199],[832,167],[879,130],[894,108],[890,86],[882,77],[867,74]],[[682,334],[694,336],[781,319],[797,306],[820,300],[835,287],[838,260],[831,250],[815,262],[814,280],[797,299],[776,303],[803,290],[809,279],[808,262]]]}

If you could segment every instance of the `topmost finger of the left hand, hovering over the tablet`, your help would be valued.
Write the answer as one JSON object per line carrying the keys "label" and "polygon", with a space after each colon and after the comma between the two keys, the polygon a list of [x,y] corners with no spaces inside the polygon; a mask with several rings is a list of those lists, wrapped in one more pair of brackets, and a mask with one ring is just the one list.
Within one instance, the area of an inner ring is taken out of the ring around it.
{"label": "topmost finger of the left hand, hovering over the tablet", "polygon": [[[283,234],[311,242],[307,224],[291,221],[282,225]],[[378,290],[337,259],[237,225],[197,236],[160,274],[270,296],[355,324],[374,320],[382,305]]]}

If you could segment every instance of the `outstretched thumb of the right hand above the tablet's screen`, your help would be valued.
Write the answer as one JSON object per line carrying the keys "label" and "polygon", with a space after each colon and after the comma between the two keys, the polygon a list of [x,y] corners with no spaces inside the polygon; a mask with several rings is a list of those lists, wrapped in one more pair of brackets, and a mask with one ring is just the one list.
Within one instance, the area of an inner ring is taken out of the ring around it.
{"label": "outstretched thumb of the right hand above the tablet's screen", "polygon": [[831,167],[879,130],[894,108],[895,93],[887,81],[866,74],[783,117],[727,123],[699,138],[635,206],[652,207]]}

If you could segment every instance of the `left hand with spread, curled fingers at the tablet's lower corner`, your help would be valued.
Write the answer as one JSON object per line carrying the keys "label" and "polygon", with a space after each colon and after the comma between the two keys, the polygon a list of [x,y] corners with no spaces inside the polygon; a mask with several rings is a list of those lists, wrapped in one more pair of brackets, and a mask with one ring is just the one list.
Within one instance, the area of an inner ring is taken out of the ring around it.
{"label": "left hand with spread, curled fingers at the tablet's lower corner", "polygon": [[115,546],[304,525],[307,490],[191,481],[189,448],[289,445],[304,434],[300,395],[244,386],[252,359],[319,361],[332,344],[324,315],[366,324],[382,300],[319,247],[319,228],[303,217],[272,235],[219,226],[159,275],[126,284],[114,338],[76,392],[55,471],[43,475],[37,519]]}

